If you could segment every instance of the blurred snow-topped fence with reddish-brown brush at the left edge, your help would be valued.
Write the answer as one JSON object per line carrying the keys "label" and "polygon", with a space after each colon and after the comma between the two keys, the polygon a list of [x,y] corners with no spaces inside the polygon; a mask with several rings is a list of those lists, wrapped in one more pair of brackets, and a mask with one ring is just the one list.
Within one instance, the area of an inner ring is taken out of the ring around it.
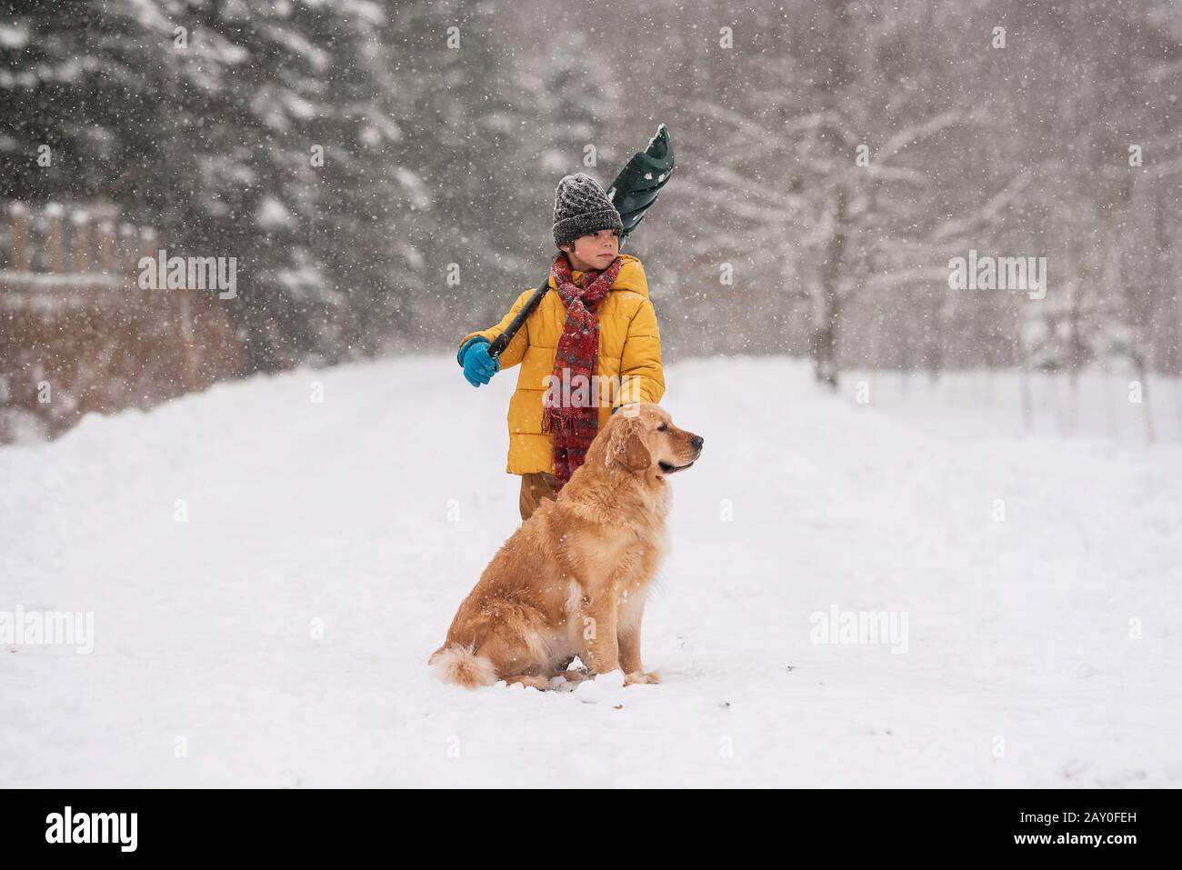
{"label": "blurred snow-topped fence with reddish-brown brush at the left edge", "polygon": [[149,408],[239,375],[241,337],[216,292],[141,290],[163,245],[113,206],[0,212],[0,443],[82,415]]}

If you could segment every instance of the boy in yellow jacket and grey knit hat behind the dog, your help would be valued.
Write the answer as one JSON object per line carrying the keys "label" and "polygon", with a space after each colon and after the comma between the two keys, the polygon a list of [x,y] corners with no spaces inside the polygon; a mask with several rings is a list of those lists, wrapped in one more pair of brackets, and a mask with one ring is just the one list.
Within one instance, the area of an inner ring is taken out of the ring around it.
{"label": "boy in yellow jacket and grey knit hat behind the dog", "polygon": [[664,394],[661,333],[641,261],[619,253],[624,225],[603,188],[585,173],[554,190],[550,288],[496,358],[489,342],[533,296],[527,290],[492,329],[470,332],[456,357],[473,387],[521,364],[509,400],[506,470],[521,475],[519,507],[527,520],[583,465],[599,427],[625,402]]}

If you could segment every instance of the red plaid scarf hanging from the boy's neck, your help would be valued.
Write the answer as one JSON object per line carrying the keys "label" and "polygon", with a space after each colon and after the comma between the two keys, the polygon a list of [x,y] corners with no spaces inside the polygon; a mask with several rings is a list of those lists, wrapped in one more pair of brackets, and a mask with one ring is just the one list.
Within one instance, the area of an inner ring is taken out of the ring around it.
{"label": "red plaid scarf hanging from the boy's neck", "polygon": [[554,476],[558,479],[557,493],[571,479],[574,470],[583,465],[587,448],[599,431],[599,395],[591,390],[591,402],[585,408],[567,408],[561,403],[561,387],[571,383],[571,395],[582,385],[574,382],[577,375],[586,377],[590,387],[591,377],[599,370],[599,316],[596,309],[608,296],[623,260],[618,257],[603,272],[584,272],[579,279],[582,287],[576,287],[571,280],[571,264],[566,254],[559,252],[550,266],[550,274],[558,287],[558,296],[566,306],[566,325],[558,339],[554,353],[554,378],[552,390],[557,388],[559,401],[557,407],[543,402],[541,430],[554,435]]}

